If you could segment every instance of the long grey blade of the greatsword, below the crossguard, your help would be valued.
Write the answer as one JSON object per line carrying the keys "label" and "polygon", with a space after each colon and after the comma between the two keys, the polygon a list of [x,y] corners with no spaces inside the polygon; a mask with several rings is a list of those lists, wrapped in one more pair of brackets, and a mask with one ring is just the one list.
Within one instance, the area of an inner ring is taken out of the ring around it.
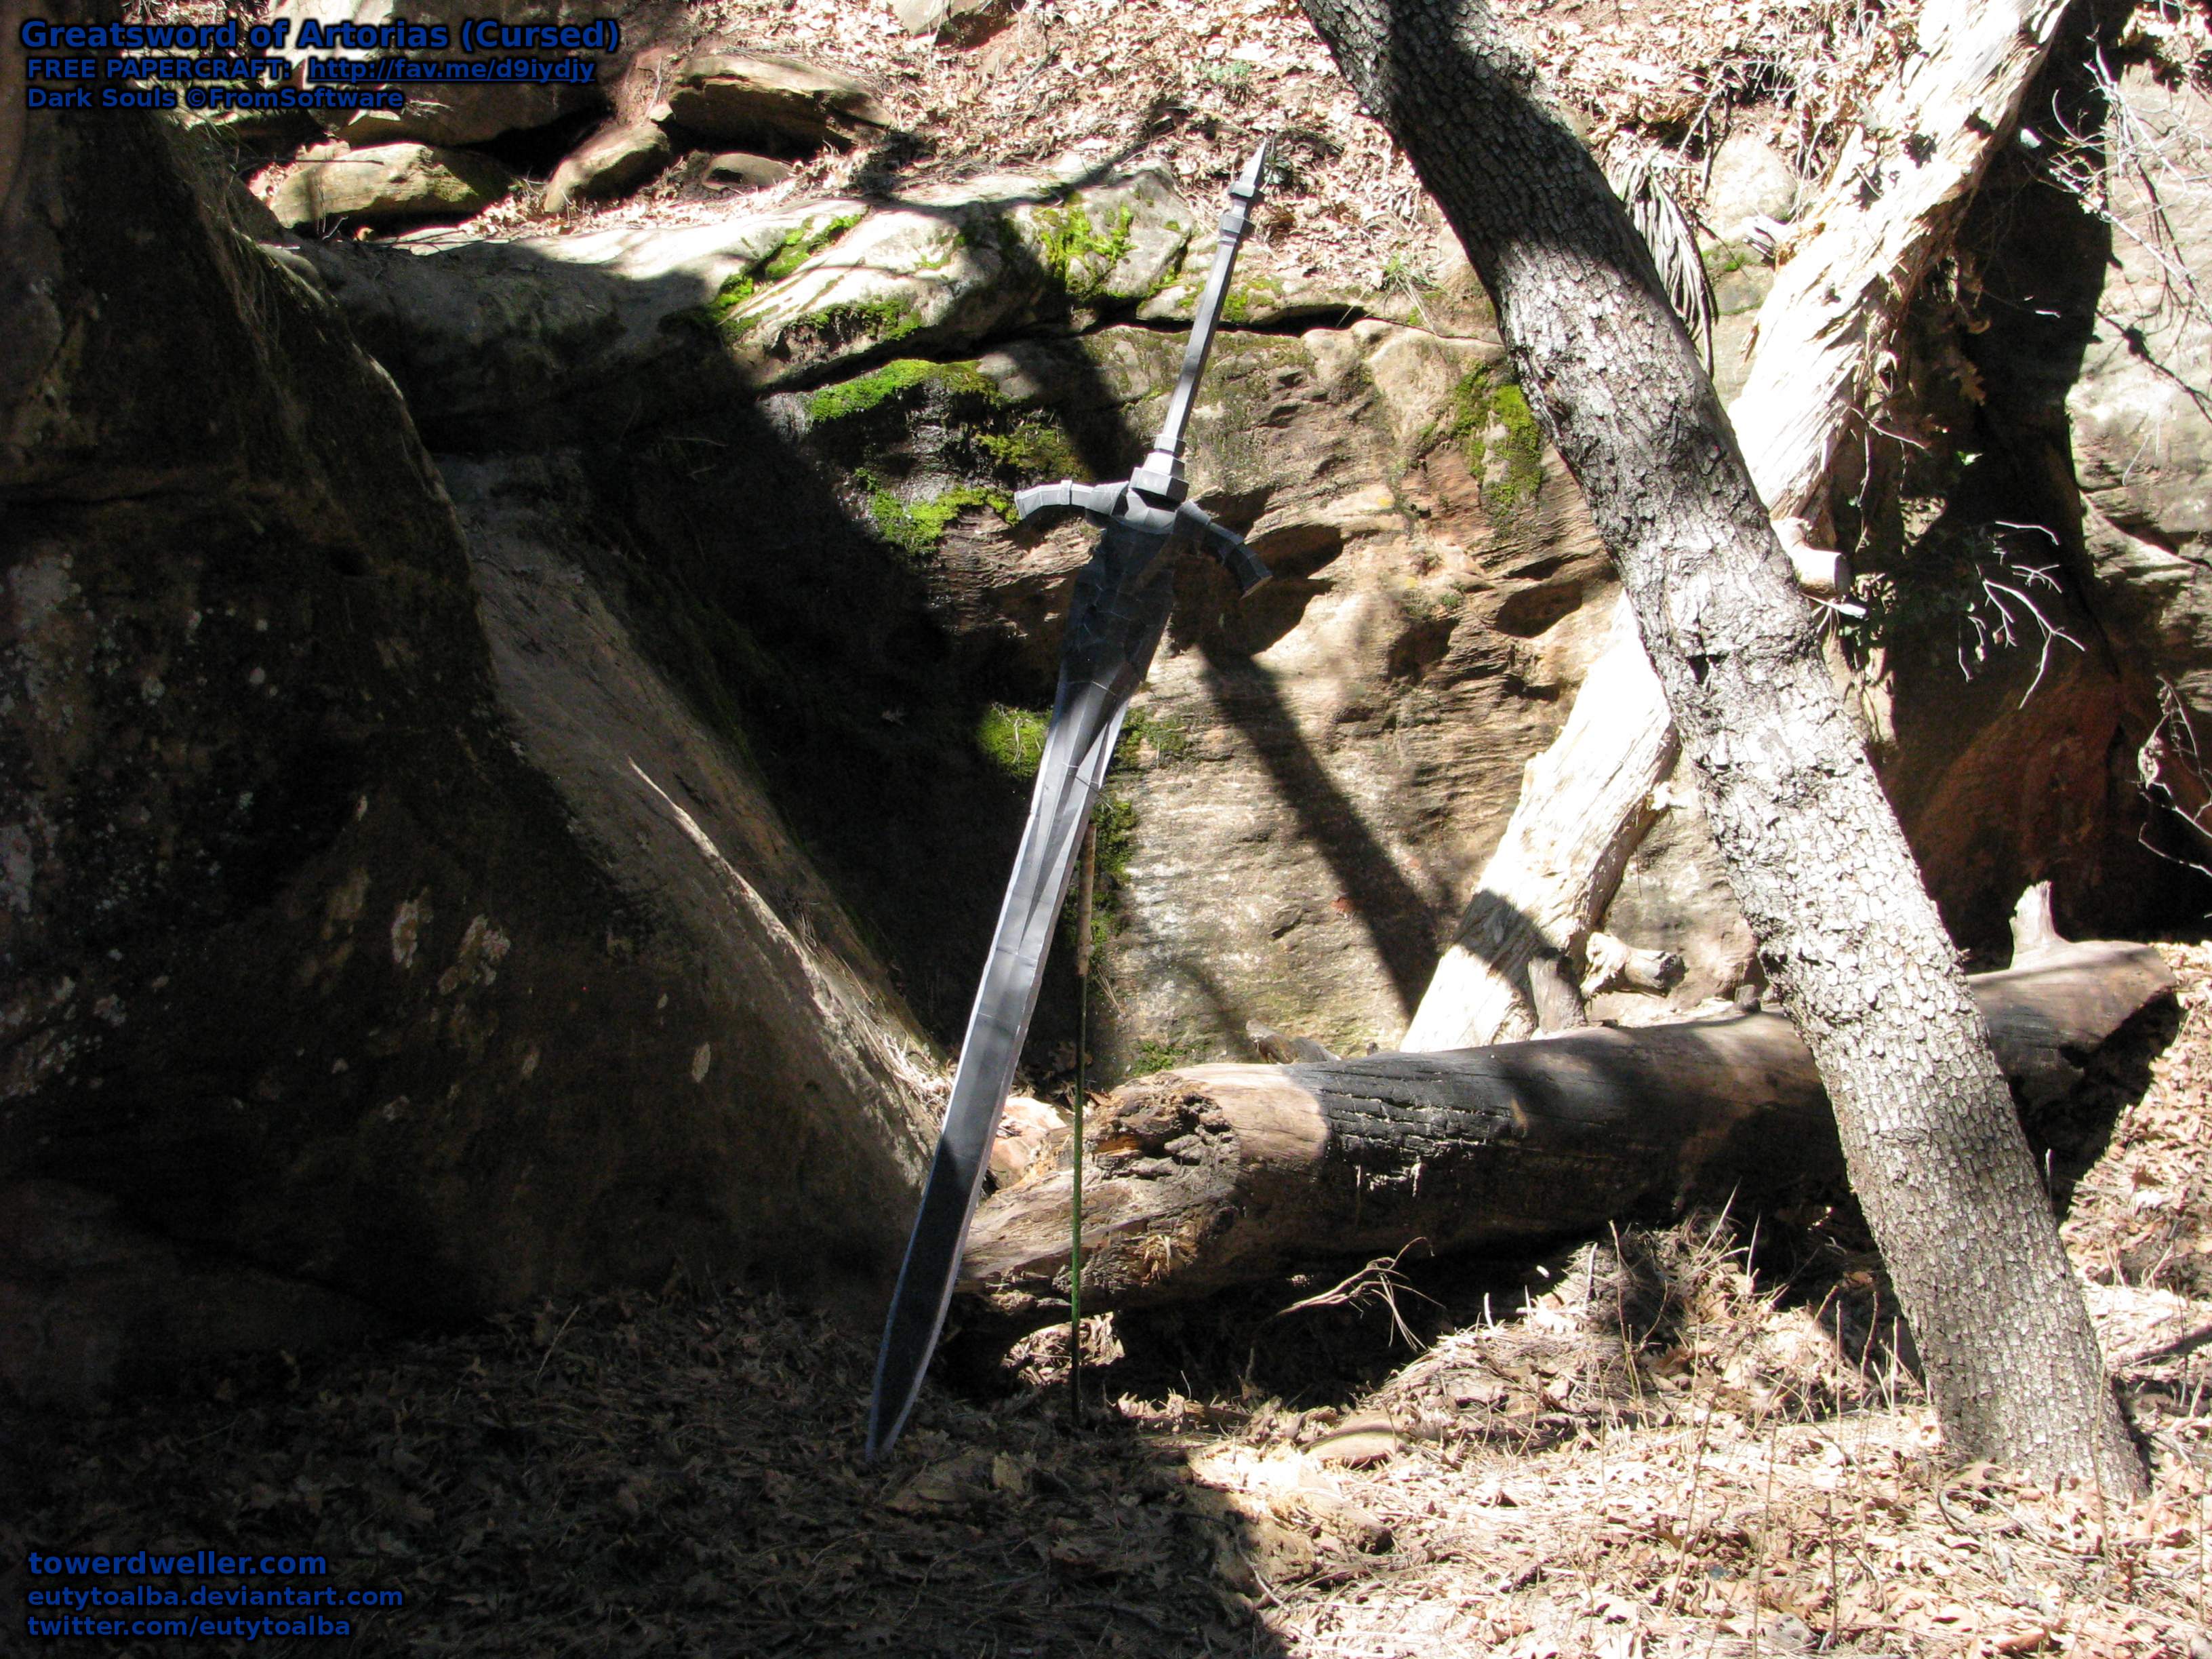
{"label": "long grey blade of the greatsword, below the crossguard", "polygon": [[[1164,564],[1159,542],[1161,538],[1108,526],[1077,582],[1053,723],[1029,796],[1029,823],[1000,902],[991,956],[960,1044],[945,1128],[929,1159],[922,1208],[914,1219],[883,1327],[867,1418],[869,1458],[880,1458],[898,1440],[945,1327],[991,1137],[1006,1108],[1013,1068],[1037,1006],[1037,987],[1044,982],[1053,922],[1068,894],[1084,825],[1106,785],[1128,699],[1144,681],[1168,622],[1172,586],[1164,580],[1164,568],[1150,568]],[[1128,580],[1119,580],[1124,575]]]}

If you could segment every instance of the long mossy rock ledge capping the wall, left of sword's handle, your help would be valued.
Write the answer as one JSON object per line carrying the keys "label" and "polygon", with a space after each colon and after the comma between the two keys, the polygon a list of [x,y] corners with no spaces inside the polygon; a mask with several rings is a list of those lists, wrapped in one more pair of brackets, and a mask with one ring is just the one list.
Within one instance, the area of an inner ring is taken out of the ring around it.
{"label": "long mossy rock ledge capping the wall, left of sword's handle", "polygon": [[[916,190],[898,208],[803,201],[697,226],[416,252],[310,248],[407,387],[434,447],[575,440],[608,396],[836,378],[885,352],[971,354],[995,332],[1133,312],[1183,265],[1199,217],[1159,173],[1060,173]],[[1343,303],[1332,307],[1343,316]]]}

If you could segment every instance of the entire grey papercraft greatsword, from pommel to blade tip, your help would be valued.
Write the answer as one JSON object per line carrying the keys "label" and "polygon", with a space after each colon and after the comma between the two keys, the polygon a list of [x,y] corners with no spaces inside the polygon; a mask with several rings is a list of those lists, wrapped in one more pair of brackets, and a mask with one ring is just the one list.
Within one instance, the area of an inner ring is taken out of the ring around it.
{"label": "entire grey papercraft greatsword, from pommel to blade tip", "polygon": [[1237,248],[1252,223],[1265,166],[1267,146],[1261,144],[1230,186],[1214,270],[1190,319],[1183,372],[1144,467],[1126,484],[1040,484],[1013,498],[1022,520],[1055,509],[1079,511],[1099,526],[1099,544],[1075,577],[1068,635],[1060,650],[1060,695],[1044,734],[1037,787],[1029,796],[1029,825],[1013,858],[982,984],[975,987],[975,1009],[960,1044],[960,1071],[953,1075],[938,1152],[929,1161],[907,1261],[898,1270],[898,1290],[891,1292],[891,1316],[876,1356],[876,1398],[867,1416],[869,1458],[883,1455],[898,1440],[945,1327],[991,1137],[1006,1108],[1029,1015],[1037,1006],[1053,920],[1068,894],[1068,874],[1075,869],[1091,807],[1106,783],[1128,699],[1152,666],[1152,650],[1168,626],[1175,551],[1197,544],[1212,553],[1245,593],[1267,580],[1267,566],[1234,531],[1186,500],[1190,484],[1183,478],[1183,427],[1190,422],[1199,376],[1206,374],[1214,323],[1221,319]]}

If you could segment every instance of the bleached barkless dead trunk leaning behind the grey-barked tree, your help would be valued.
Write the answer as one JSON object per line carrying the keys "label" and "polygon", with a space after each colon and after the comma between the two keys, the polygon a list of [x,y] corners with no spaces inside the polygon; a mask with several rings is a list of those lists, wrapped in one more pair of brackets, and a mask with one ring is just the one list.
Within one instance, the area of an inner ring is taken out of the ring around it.
{"label": "bleached barkless dead trunk leaning behind the grey-barked tree", "polygon": [[[1933,0],[1922,9],[1929,51],[1869,104],[1792,232],[1796,252],[1759,312],[1750,380],[1730,420],[1807,591],[1840,586],[1838,555],[1825,551],[1834,540],[1827,484],[1836,449],[1860,420],[1869,387],[1880,387],[1920,279],[1949,248],[1989,159],[2011,139],[2064,9],[2064,0]],[[1911,166],[1907,146],[1924,148],[1920,135],[1936,148]],[[1869,192],[1867,179],[1882,188]],[[1566,732],[1542,765],[1531,765],[1402,1048],[1504,1042],[1533,1029],[1524,962],[1571,953],[1597,925],[1650,827],[1646,799],[1674,754],[1674,726],[1644,644],[1632,628],[1617,628],[1590,664]],[[1515,927],[1515,911],[1528,922]]]}

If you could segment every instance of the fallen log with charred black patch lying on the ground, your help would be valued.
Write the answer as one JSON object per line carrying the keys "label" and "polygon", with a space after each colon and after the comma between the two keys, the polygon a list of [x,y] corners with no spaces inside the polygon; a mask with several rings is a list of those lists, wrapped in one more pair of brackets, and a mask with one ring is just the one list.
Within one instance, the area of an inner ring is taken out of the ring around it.
{"label": "fallen log with charred black patch lying on the ground", "polygon": [[[1971,984],[2033,1115],[2174,980],[2143,945],[2035,936],[2015,967]],[[1840,1183],[1812,1055],[1772,1013],[1192,1066],[1124,1086],[1102,1113],[1084,1183],[1084,1305],[1186,1301],[1416,1239],[1438,1252],[1515,1245]],[[1062,1170],[984,1201],[962,1290],[998,1312],[1042,1312],[1066,1303],[1066,1263]]]}

